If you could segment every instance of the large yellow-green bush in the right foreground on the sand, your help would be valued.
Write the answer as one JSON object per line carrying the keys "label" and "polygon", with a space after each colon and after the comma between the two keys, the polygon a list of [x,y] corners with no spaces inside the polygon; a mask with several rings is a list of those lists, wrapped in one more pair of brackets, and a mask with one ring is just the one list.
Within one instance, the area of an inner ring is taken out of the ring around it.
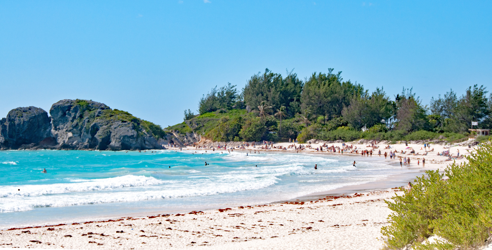
{"label": "large yellow-green bush in the right foreground on the sand", "polygon": [[[412,190],[387,201],[390,225],[381,229],[389,249],[411,244],[417,250],[471,250],[481,246],[492,229],[492,144],[486,142],[468,162],[426,171]],[[448,180],[443,180],[447,176]],[[423,245],[431,235],[449,243]]]}

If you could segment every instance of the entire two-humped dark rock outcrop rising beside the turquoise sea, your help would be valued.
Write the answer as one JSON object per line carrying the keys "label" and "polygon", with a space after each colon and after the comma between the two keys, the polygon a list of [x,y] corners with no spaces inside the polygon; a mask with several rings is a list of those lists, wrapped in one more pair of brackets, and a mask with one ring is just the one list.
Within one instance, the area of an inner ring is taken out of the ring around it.
{"label": "entire two-humped dark rock outcrop rising beside the turquoise sea", "polygon": [[[162,129],[128,112],[88,100],[62,100],[48,113],[17,108],[0,120],[0,149],[160,149]],[[172,137],[169,135],[169,137]]]}

